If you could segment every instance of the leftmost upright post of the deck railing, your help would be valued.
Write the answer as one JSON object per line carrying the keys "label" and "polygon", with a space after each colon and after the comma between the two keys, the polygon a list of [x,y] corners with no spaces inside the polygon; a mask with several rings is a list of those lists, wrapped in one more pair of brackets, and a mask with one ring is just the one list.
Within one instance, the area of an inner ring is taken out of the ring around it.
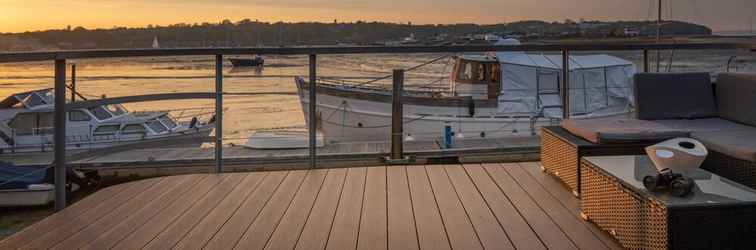
{"label": "leftmost upright post of the deck railing", "polygon": [[66,208],[66,60],[55,60],[55,211]]}

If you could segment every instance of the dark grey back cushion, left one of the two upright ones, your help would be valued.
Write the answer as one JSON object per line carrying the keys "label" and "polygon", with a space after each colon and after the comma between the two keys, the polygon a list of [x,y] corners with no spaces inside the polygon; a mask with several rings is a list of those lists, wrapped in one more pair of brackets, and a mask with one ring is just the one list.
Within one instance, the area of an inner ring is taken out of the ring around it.
{"label": "dark grey back cushion, left one of the two upright ones", "polygon": [[716,117],[708,73],[635,75],[636,117],[642,120]]}

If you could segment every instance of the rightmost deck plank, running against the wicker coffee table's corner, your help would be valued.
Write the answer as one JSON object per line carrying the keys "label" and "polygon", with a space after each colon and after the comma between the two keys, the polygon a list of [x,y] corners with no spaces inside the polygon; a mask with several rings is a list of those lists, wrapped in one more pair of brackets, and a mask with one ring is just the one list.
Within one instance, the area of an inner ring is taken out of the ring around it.
{"label": "rightmost deck plank, running against the wicker coffee table's corner", "polygon": [[[530,174],[534,179],[536,179],[543,187],[551,193],[559,202],[562,203],[563,206],[565,206],[567,209],[569,209],[575,216],[579,216],[580,214],[580,200],[578,198],[575,198],[575,196],[572,195],[572,192],[568,191],[565,186],[559,182],[557,182],[554,177],[551,177],[549,175],[543,174],[540,170],[540,163],[537,162],[528,162],[528,163],[520,163],[520,167],[524,169],[526,172]],[[582,220],[582,219],[581,219]],[[593,224],[590,224],[588,222],[584,222],[586,226],[588,227],[591,232],[593,232],[594,235],[596,235],[601,241],[604,242],[609,248],[611,249],[624,249],[615,239],[613,239],[609,234],[602,231],[598,227],[596,227]]]}

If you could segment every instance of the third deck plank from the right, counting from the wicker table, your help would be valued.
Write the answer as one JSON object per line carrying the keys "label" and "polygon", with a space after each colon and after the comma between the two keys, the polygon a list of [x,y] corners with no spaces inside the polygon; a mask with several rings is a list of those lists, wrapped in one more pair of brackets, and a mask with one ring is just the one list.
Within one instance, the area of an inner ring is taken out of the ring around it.
{"label": "third deck plank from the right, counting from the wicker table", "polygon": [[544,245],[549,249],[577,249],[577,246],[567,237],[562,229],[552,221],[526,191],[515,182],[498,164],[484,164],[483,168],[496,182],[504,194],[509,197],[517,211],[538,234]]}

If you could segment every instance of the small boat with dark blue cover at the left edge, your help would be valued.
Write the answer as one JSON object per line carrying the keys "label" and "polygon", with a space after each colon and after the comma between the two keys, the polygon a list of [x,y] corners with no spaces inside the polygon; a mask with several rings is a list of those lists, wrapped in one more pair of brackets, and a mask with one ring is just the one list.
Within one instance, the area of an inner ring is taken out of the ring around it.
{"label": "small boat with dark blue cover at the left edge", "polygon": [[[0,207],[41,206],[55,200],[53,168],[0,162]],[[69,187],[79,189],[83,174],[68,171]]]}

